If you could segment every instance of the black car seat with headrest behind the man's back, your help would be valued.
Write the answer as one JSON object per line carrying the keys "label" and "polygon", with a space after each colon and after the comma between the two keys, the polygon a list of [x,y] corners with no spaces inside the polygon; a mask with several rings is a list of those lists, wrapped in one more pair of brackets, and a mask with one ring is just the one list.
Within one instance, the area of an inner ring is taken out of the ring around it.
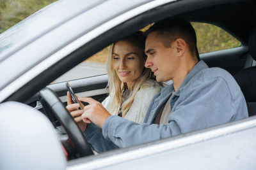
{"label": "black car seat with headrest behind the man's back", "polygon": [[[250,32],[248,47],[252,59],[256,60],[256,27]],[[256,115],[256,66],[239,71],[234,78],[244,94],[249,117]]]}

